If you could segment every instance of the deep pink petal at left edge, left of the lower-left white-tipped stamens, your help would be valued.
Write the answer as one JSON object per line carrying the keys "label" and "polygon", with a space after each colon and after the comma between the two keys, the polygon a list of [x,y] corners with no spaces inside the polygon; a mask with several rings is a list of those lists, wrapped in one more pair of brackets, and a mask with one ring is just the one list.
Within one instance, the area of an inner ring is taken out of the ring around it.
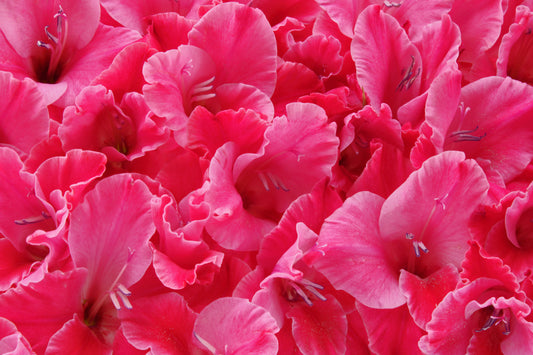
{"label": "deep pink petal at left edge, left of the lower-left white-tipped stamens", "polygon": [[0,317],[12,321],[33,350],[44,353],[49,338],[82,311],[84,269],[47,273],[38,283],[18,285],[0,295]]}

